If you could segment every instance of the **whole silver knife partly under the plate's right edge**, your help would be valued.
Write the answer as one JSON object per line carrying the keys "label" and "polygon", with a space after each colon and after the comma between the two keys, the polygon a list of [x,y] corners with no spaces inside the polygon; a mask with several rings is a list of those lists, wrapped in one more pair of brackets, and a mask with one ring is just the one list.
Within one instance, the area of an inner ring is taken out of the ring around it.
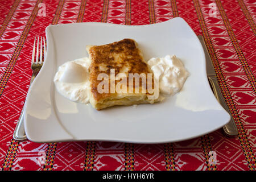
{"label": "whole silver knife partly under the plate's right edge", "polygon": [[212,60],[210,59],[210,55],[207,50],[207,47],[205,46],[204,38],[203,36],[198,36],[198,38],[204,48],[206,65],[207,65],[207,77],[210,85],[212,86],[213,93],[217,98],[218,102],[220,102],[221,106],[230,114],[231,119],[225,126],[223,126],[223,130],[229,136],[236,136],[238,135],[237,126],[236,126],[236,123],[234,122],[234,118],[232,117],[232,114],[229,111],[229,107],[228,105],[226,105],[224,97],[222,96],[222,93],[220,91],[220,86],[218,85],[216,73],[214,71]]}

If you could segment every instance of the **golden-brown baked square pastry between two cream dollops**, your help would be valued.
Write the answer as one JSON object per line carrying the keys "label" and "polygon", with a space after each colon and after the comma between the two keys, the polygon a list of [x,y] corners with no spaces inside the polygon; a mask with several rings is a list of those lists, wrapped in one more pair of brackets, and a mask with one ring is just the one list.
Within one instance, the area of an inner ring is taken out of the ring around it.
{"label": "golden-brown baked square pastry between two cream dollops", "polygon": [[123,39],[102,46],[86,46],[86,50],[91,60],[90,104],[95,109],[159,101],[154,75],[135,40]]}

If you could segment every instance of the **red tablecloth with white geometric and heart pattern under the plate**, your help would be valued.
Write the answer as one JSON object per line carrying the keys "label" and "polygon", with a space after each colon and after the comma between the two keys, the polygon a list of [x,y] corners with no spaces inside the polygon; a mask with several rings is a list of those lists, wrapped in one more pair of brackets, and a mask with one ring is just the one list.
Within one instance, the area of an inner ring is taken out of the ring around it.
{"label": "red tablecloth with white geometric and heart pattern under the plate", "polygon": [[[39,3],[43,4],[38,7]],[[238,126],[238,137],[225,137],[220,129],[195,139],[167,144],[39,144],[13,139],[32,74],[30,60],[34,37],[45,36],[49,24],[139,25],[159,23],[176,16],[184,18],[197,35],[204,36],[222,93]],[[255,0],[0,1],[0,168],[255,170],[255,19]],[[210,155],[210,151],[214,155]],[[215,164],[211,163],[212,158]]]}

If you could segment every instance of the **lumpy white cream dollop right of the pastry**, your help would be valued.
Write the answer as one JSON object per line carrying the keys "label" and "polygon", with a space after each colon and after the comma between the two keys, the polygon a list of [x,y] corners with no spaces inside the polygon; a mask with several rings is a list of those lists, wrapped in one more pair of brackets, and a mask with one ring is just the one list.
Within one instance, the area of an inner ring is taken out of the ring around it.
{"label": "lumpy white cream dollop right of the pastry", "polygon": [[174,95],[183,87],[189,73],[184,64],[175,55],[153,57],[147,64],[154,75],[159,76],[159,91],[162,94]]}

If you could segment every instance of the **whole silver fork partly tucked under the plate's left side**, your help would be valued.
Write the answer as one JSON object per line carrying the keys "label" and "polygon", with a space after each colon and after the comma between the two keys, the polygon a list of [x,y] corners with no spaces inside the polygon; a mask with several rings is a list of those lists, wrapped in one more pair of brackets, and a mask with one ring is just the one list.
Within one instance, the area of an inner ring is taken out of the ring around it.
{"label": "whole silver fork partly tucked under the plate's left side", "polygon": [[[37,43],[36,43],[36,38],[38,39]],[[32,59],[31,59],[31,69],[32,69],[33,73],[32,73],[32,77],[31,77],[30,85],[32,84],[36,75],[38,75],[38,72],[42,68],[44,56],[46,55],[46,40],[44,39],[44,37],[43,38],[40,37],[40,38],[41,38],[40,46],[39,46],[39,37],[35,37],[35,40],[34,40],[34,47],[33,47],[33,52],[32,52]],[[42,44],[42,41],[43,41],[43,44]],[[39,50],[39,47],[40,47],[40,50]],[[35,49],[36,49],[36,59],[35,59]],[[40,54],[40,57],[39,57],[39,54]],[[25,101],[24,106],[26,106],[26,101]],[[27,139],[25,129],[24,129],[23,111],[24,111],[24,107],[22,109],[22,112],[19,117],[19,121],[14,130],[13,138],[15,140],[26,140]]]}

